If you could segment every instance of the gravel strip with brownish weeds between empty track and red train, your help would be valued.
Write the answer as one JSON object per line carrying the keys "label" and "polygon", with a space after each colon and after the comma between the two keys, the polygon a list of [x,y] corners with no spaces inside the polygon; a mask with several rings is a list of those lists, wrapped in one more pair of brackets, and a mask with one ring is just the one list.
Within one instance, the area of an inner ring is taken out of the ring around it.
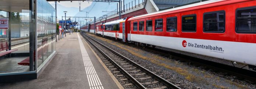
{"label": "gravel strip with brownish weeds between empty track and red train", "polygon": [[209,88],[256,88],[253,82],[247,80],[238,80],[234,76],[225,75],[225,73],[216,72],[211,69],[205,69],[200,66],[188,65],[186,62],[162,57],[159,54],[153,54],[143,49],[124,45],[113,40],[91,35],[97,41],[109,46],[111,49],[121,53],[132,61],[145,66],[146,69],[154,71],[173,84],[180,85],[184,89],[209,89]]}

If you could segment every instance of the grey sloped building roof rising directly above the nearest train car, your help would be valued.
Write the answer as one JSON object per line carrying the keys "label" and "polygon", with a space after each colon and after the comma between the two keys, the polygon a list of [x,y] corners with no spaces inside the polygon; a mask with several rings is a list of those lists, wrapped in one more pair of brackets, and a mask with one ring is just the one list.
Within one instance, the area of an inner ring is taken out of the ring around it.
{"label": "grey sloped building roof rising directly above the nearest train car", "polygon": [[201,0],[153,0],[159,9],[166,9],[178,5],[193,3]]}

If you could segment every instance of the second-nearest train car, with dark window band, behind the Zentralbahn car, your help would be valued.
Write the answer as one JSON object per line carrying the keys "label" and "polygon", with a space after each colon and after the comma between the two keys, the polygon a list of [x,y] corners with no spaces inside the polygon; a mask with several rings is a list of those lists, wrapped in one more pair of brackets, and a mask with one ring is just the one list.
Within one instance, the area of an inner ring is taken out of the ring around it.
{"label": "second-nearest train car, with dark window band, behind the Zentralbahn car", "polygon": [[127,20],[131,17],[126,17],[124,19],[119,19],[103,24],[103,36],[109,36],[115,39],[122,39],[123,42],[127,42]]}

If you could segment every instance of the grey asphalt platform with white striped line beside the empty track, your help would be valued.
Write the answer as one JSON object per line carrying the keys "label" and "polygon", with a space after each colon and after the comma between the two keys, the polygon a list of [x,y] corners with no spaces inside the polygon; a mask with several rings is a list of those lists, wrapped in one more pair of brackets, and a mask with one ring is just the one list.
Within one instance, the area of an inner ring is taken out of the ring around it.
{"label": "grey asphalt platform with white striped line beside the empty track", "polygon": [[79,33],[67,34],[58,40],[56,50],[55,57],[38,79],[4,83],[0,88],[122,88]]}

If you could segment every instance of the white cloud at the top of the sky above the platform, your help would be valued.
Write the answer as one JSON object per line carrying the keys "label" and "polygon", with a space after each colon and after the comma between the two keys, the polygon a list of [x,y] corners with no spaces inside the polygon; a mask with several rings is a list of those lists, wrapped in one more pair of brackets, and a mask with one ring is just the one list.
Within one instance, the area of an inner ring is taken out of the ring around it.
{"label": "white cloud at the top of the sky above the platform", "polygon": [[[49,1],[50,4],[55,4],[54,1]],[[74,8],[79,8],[79,2],[78,1],[60,1],[57,2],[60,5],[63,5],[64,7],[74,7]],[[92,1],[81,1],[81,9],[84,9],[86,7],[89,7],[90,5],[92,5]]]}

